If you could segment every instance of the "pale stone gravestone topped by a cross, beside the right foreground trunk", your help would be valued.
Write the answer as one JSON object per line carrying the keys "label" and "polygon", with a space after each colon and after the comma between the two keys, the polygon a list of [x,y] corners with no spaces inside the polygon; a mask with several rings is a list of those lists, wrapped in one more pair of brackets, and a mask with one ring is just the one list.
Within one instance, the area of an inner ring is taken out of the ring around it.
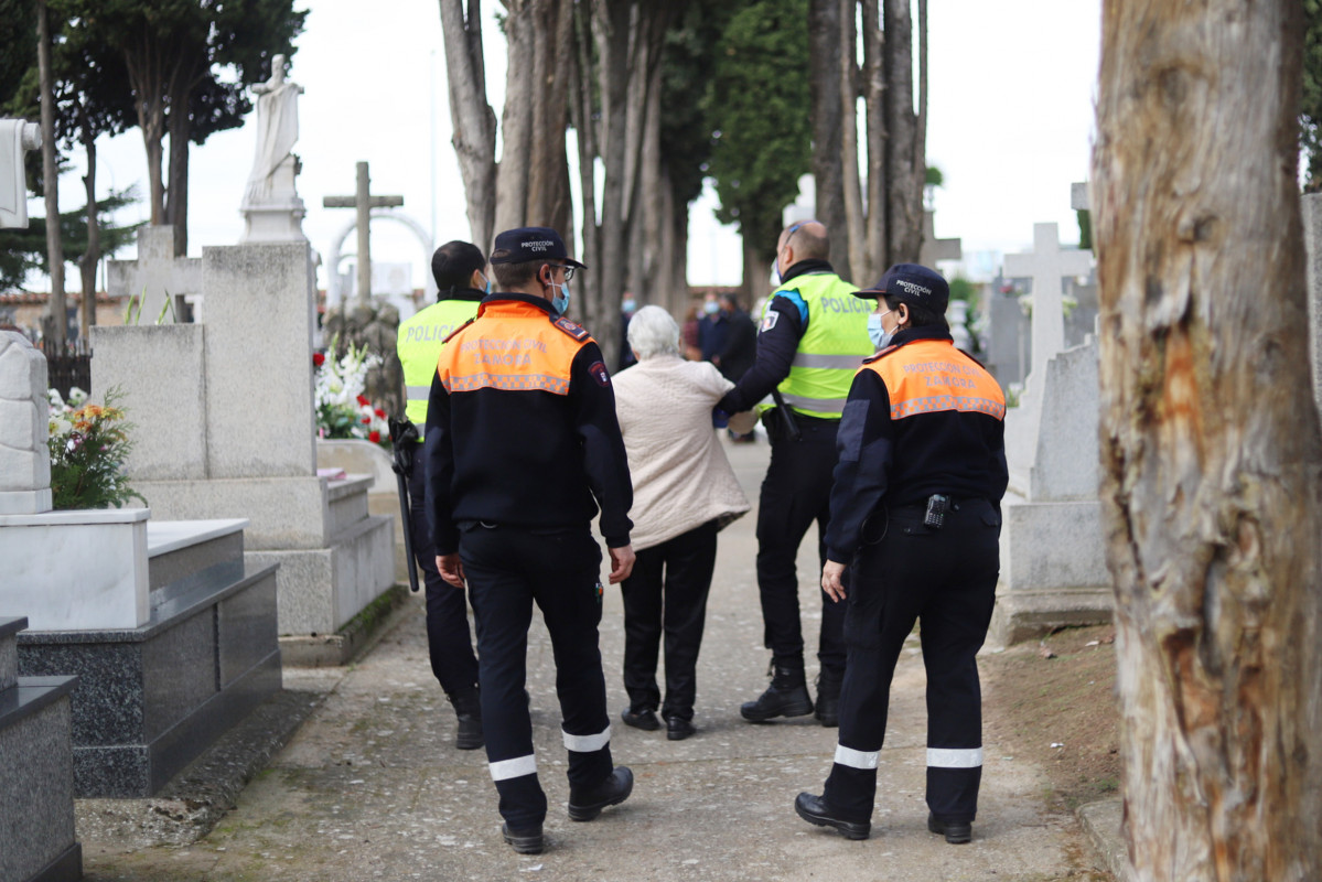
{"label": "pale stone gravestone topped by a cross, beside the right foreground trunk", "polygon": [[1107,621],[1112,610],[1097,501],[1097,342],[1062,349],[1060,280],[1089,272],[1091,255],[1062,251],[1055,223],[1036,225],[1034,239],[1031,255],[1006,257],[1007,275],[1032,279],[1032,370],[1006,415],[1010,488],[992,623],[1002,644]]}

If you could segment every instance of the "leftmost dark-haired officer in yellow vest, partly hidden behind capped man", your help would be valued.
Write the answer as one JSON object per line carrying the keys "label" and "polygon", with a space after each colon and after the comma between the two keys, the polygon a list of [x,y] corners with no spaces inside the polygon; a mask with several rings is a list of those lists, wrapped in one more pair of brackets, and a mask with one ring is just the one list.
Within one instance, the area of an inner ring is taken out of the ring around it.
{"label": "leftmost dark-haired officer in yellow vest, partly hidden behind capped man", "polygon": [[[447,242],[431,255],[431,274],[436,279],[436,303],[419,311],[399,325],[395,352],[405,369],[406,410],[408,421],[426,432],[427,398],[436,360],[446,337],[477,315],[477,303],[490,290],[484,270],[486,258],[471,242]],[[426,438],[426,435],[423,435]],[[468,607],[463,591],[440,578],[436,550],[427,526],[427,469],[422,458],[422,440],[405,442],[412,450],[406,460],[408,472],[410,538],[414,555],[423,571],[427,590],[427,651],[431,672],[455,707],[459,726],[455,746],[476,750],[483,746],[483,714],[477,698],[477,657],[468,631]],[[405,452],[405,451],[401,451]]]}

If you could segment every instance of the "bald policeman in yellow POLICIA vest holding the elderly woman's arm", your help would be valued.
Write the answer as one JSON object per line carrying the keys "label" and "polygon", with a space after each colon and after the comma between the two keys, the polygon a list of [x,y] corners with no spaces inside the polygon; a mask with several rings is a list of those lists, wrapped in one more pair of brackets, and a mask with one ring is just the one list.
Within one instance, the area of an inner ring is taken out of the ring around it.
{"label": "bald policeman in yellow POLICIA vest holding the elderly woman's arm", "polygon": [[[830,481],[836,467],[836,430],[854,372],[873,354],[866,301],[832,268],[826,227],[802,221],[776,243],[780,286],[772,292],[758,333],[758,360],[720,399],[736,414],[765,395],[777,406],[763,415],[771,438],[771,464],[758,509],[758,587],[764,644],[772,653],[771,686],[739,713],[760,722],[813,713],[804,677],[804,635],[798,618],[798,545],[817,521],[817,549],[830,521]],[[845,676],[843,608],[822,594],[817,643],[817,719],[838,722]]]}

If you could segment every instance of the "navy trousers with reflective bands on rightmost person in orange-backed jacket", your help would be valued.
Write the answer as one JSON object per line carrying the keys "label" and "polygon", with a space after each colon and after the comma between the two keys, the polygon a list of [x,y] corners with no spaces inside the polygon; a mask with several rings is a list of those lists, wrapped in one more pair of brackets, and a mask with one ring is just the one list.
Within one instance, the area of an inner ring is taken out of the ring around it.
{"label": "navy trousers with reflective bands on rightmost person in orange-backed jacket", "polygon": [[891,677],[919,621],[927,668],[927,804],[941,821],[973,821],[982,780],[982,693],[977,652],[999,573],[1001,516],[985,500],[956,501],[940,530],[925,506],[891,509],[880,541],[854,558],[845,602],[849,661],[839,696],[839,744],[825,803],[867,821],[886,735]]}

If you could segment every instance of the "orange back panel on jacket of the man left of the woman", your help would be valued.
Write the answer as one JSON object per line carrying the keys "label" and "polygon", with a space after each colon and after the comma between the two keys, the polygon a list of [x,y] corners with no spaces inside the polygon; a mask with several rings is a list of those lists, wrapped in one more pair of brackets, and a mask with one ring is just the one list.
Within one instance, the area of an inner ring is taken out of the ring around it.
{"label": "orange back panel on jacket of the man left of the woman", "polygon": [[451,335],[436,373],[449,394],[500,389],[567,395],[574,356],[592,337],[545,309],[501,300],[484,303],[477,317]]}

